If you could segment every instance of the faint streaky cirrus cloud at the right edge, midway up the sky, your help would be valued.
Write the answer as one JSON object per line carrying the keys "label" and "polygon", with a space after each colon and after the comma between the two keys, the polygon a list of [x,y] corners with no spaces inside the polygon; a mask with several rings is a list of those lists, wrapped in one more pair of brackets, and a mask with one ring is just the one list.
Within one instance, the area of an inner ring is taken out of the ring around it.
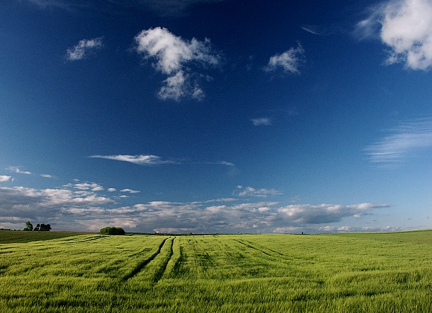
{"label": "faint streaky cirrus cloud at the right edge, midway up the sky", "polygon": [[414,119],[390,130],[382,140],[365,148],[370,162],[378,165],[400,163],[421,150],[432,148],[432,118]]}

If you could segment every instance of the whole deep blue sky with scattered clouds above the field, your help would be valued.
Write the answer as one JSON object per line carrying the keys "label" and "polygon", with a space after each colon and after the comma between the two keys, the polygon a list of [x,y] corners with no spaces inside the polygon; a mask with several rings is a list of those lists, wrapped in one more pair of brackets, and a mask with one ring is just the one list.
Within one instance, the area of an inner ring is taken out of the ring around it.
{"label": "whole deep blue sky with scattered clouds above the field", "polygon": [[432,1],[0,3],[0,228],[432,228]]}

